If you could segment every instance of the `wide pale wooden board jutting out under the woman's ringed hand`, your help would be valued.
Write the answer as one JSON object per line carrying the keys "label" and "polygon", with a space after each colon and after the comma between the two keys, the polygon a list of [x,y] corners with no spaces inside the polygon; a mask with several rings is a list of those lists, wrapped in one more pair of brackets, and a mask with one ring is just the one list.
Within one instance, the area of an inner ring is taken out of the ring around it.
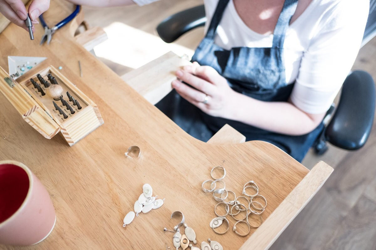
{"label": "wide pale wooden board jutting out under the woman's ringed hand", "polygon": [[176,70],[190,64],[190,61],[170,51],[126,73],[121,79],[154,105],[172,90],[171,82],[176,79]]}

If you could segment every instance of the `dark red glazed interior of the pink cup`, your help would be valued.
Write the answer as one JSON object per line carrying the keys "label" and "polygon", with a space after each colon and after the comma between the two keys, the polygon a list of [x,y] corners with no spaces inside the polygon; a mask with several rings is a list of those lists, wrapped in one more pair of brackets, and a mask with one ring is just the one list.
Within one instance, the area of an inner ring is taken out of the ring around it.
{"label": "dark red glazed interior of the pink cup", "polygon": [[25,170],[13,164],[0,165],[0,223],[21,207],[29,191]]}

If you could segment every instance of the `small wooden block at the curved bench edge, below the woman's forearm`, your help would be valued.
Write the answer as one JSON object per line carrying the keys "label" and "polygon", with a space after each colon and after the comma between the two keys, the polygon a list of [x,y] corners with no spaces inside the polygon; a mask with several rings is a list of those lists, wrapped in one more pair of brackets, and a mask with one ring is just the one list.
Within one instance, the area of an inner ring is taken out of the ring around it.
{"label": "small wooden block at the curved bench edge, below the woman's forearm", "polygon": [[212,138],[207,141],[210,144],[231,145],[246,141],[246,136],[239,133],[229,124],[225,124]]}

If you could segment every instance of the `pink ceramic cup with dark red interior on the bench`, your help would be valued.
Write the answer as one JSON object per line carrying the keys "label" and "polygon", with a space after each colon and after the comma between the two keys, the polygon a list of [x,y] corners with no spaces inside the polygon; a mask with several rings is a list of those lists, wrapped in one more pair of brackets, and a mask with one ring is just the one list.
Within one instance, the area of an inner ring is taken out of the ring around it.
{"label": "pink ceramic cup with dark red interior on the bench", "polygon": [[55,222],[50,195],[30,169],[13,160],[0,161],[0,244],[37,244]]}

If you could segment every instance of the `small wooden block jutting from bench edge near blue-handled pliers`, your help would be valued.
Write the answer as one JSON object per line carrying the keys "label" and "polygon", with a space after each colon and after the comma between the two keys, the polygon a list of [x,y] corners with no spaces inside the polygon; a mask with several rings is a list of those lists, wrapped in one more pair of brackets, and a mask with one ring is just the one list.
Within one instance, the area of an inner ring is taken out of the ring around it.
{"label": "small wooden block jutting from bench edge near blue-handled pliers", "polygon": [[87,51],[91,51],[95,46],[107,40],[108,36],[103,28],[94,27],[78,34],[75,39]]}

